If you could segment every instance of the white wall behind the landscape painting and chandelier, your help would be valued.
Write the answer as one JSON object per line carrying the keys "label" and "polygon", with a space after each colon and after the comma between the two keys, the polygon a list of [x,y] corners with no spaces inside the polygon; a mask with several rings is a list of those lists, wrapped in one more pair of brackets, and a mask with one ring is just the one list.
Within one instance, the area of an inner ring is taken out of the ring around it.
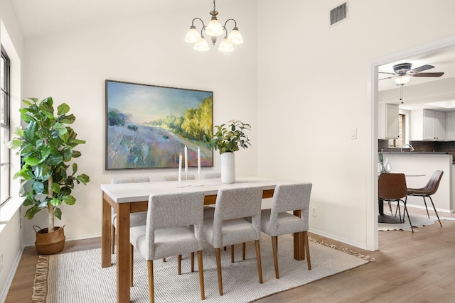
{"label": "white wall behind the landscape painting and chandelier", "polygon": [[[252,148],[236,153],[237,175],[257,174],[259,131],[257,121],[257,1],[230,1],[223,18],[237,21],[245,43],[233,53],[216,48],[199,53],[183,41],[191,20],[208,19],[210,6],[191,6],[144,12],[144,16],[115,23],[100,23],[77,31],[65,31],[26,40],[26,76],[23,97],[52,96],[67,103],[75,114],[73,128],[82,157],[76,159],[79,172],[90,183],[75,188],[77,202],[63,206],[67,239],[100,236],[100,184],[112,177],[147,175],[161,180],[177,170],[105,170],[105,79],[214,92],[213,123],[239,119],[252,125]],[[220,17],[221,18],[221,17]],[[223,19],[224,20],[224,19]],[[218,45],[217,45],[218,46]],[[208,171],[220,171],[220,157]],[[24,222],[24,241],[33,243],[32,225],[45,225],[45,214]]]}

